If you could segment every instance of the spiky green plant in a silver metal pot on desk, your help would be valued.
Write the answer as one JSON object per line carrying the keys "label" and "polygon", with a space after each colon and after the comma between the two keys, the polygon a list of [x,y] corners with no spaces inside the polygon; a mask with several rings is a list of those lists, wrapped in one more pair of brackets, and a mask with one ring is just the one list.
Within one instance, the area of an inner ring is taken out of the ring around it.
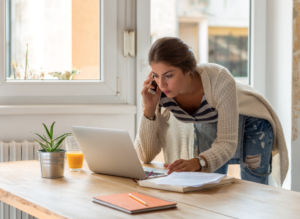
{"label": "spiky green plant in a silver metal pot on desk", "polygon": [[41,175],[43,178],[50,179],[64,176],[66,150],[61,149],[61,143],[67,136],[72,134],[66,133],[57,138],[53,138],[54,124],[55,122],[52,123],[51,128],[49,130],[47,126],[43,123],[49,138],[47,138],[45,135],[41,136],[37,133],[33,133],[39,136],[43,141],[41,142],[37,139],[34,139],[42,147],[41,150],[38,150],[41,166]]}

